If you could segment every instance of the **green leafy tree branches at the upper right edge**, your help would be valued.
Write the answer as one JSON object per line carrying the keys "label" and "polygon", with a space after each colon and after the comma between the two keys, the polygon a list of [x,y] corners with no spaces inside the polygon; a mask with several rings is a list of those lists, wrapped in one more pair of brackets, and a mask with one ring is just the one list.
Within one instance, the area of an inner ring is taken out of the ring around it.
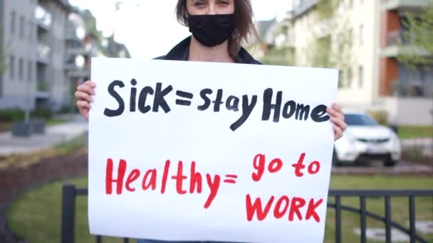
{"label": "green leafy tree branches at the upper right edge", "polygon": [[397,60],[409,68],[433,65],[433,0],[426,1],[427,6],[421,13],[405,13],[406,18],[402,23],[405,31],[402,33]]}

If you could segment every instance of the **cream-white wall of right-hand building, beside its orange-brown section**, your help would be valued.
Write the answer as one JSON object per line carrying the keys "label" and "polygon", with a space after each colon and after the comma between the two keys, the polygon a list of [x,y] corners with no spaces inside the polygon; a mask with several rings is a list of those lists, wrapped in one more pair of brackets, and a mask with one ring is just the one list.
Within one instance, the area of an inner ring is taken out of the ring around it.
{"label": "cream-white wall of right-hand building, beside its orange-brown section", "polygon": [[[326,34],[323,31],[328,31],[332,36],[333,53],[338,52],[335,30],[347,23],[345,28],[351,29],[353,33],[353,48],[349,55],[352,79],[345,79],[344,85],[338,90],[337,99],[343,107],[372,105],[378,100],[379,89],[380,2],[353,0],[350,6],[350,0],[345,0],[344,8],[337,11],[337,16],[328,24],[328,28],[323,28],[326,21],[316,21],[314,8],[294,18],[291,31],[295,36],[296,65],[311,66],[311,43],[315,36]],[[343,75],[347,75],[347,70],[343,70]]]}

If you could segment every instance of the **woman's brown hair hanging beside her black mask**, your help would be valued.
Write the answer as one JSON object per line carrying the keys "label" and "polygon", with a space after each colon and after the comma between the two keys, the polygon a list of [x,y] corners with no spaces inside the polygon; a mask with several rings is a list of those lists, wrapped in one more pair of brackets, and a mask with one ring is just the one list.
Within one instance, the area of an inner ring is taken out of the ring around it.
{"label": "woman's brown hair hanging beside her black mask", "polygon": [[[178,0],[176,6],[177,21],[188,25],[187,0]],[[229,36],[229,55],[235,59],[241,49],[242,41],[248,41],[251,34],[258,36],[253,22],[253,8],[250,0],[234,0],[234,31]]]}

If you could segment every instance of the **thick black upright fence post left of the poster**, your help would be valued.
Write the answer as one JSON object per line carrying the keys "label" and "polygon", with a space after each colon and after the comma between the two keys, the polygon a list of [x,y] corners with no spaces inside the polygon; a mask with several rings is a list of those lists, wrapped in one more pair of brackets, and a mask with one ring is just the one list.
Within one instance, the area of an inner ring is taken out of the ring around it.
{"label": "thick black upright fence post left of the poster", "polygon": [[73,243],[75,233],[75,185],[63,185],[61,243]]}

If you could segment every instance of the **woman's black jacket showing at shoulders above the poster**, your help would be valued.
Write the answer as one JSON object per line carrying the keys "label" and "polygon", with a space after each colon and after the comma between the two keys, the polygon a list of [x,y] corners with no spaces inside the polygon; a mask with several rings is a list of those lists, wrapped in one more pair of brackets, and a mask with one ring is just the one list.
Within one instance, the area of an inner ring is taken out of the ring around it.
{"label": "woman's black jacket showing at shoulders above the poster", "polygon": [[[189,55],[189,44],[191,43],[191,36],[188,38],[185,38],[183,41],[178,43],[172,50],[167,53],[167,55],[162,55],[158,58],[155,58],[157,60],[188,60]],[[258,64],[261,65],[261,63],[257,60],[255,60],[249,53],[244,49],[241,48],[239,50],[239,54],[236,57],[235,60],[236,63],[244,63],[244,64]]]}

